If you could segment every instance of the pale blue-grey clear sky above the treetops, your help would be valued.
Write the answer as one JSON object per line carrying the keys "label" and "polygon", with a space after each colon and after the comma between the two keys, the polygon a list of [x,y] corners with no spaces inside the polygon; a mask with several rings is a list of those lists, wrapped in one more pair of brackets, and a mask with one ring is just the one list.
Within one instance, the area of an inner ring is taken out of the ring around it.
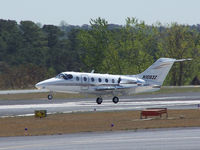
{"label": "pale blue-grey clear sky above the treetops", "polygon": [[149,25],[200,24],[200,0],[0,0],[0,19],[18,23],[83,25],[98,17],[119,25],[127,17]]}

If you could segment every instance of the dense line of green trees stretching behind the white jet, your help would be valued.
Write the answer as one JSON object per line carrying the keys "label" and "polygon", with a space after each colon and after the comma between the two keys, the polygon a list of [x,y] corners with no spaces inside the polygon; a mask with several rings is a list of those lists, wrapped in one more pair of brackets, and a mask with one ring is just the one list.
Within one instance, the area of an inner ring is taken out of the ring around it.
{"label": "dense line of green trees stretching behind the white jet", "polygon": [[0,20],[0,89],[32,88],[63,71],[137,74],[160,57],[192,58],[174,64],[165,85],[188,85],[200,77],[200,26],[125,25],[91,19],[90,25],[43,25]]}

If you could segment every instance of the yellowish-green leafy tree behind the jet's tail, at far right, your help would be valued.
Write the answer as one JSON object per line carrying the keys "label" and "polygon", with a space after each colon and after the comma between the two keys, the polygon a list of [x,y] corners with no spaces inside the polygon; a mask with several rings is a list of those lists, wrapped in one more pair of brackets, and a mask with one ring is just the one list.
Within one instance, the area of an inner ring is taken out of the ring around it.
{"label": "yellowish-green leafy tree behind the jet's tail, at far right", "polygon": [[[161,33],[160,56],[176,59],[194,58],[194,61],[198,61],[199,58],[194,55],[194,51],[199,55],[199,48],[194,42],[196,36],[188,26],[172,24],[166,28],[165,32]],[[170,72],[169,82],[171,85],[182,85],[188,80],[191,73],[191,63],[176,63]]]}

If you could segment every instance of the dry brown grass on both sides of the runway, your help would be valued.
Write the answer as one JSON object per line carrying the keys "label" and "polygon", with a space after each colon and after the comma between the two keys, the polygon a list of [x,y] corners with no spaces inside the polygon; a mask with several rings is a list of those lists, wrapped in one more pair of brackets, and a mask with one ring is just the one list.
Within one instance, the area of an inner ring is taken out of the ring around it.
{"label": "dry brown grass on both sides of the runway", "polygon": [[[199,87],[174,88],[165,87],[160,93],[177,92],[199,92]],[[41,99],[46,98],[47,93],[32,94],[9,94],[10,98],[16,99],[33,97]],[[4,98],[0,95],[0,100]],[[6,95],[4,95],[6,96]],[[35,97],[34,97],[35,96]],[[57,94],[56,98],[74,97],[74,95]],[[82,95],[78,95],[82,97]],[[76,98],[76,97],[75,97]],[[151,128],[174,128],[174,127],[199,127],[200,110],[168,110],[168,118],[163,115],[160,117],[151,117],[140,119],[140,111],[109,111],[109,112],[76,112],[76,113],[58,113],[48,115],[46,118],[29,117],[7,117],[0,118],[0,136],[34,136],[34,135],[54,135],[68,134],[78,132],[101,132],[118,131]]]}

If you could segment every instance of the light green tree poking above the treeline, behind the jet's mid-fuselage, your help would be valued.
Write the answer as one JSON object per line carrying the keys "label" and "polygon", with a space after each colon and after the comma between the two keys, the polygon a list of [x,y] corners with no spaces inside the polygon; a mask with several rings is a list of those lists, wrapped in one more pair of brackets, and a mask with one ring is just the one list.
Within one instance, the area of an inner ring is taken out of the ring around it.
{"label": "light green tree poking above the treeline, behind the jet's mid-fuselage", "polygon": [[86,71],[95,69],[102,72],[102,62],[108,47],[108,22],[98,18],[90,21],[91,30],[82,30],[78,35],[80,46],[83,47],[81,59]]}

